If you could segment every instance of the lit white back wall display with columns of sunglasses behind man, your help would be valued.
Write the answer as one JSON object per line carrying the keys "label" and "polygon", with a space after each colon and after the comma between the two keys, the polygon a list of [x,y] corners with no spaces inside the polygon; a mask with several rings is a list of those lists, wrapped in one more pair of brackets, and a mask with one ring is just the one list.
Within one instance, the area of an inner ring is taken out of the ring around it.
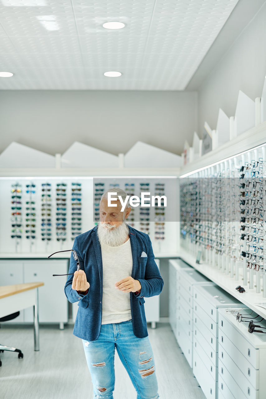
{"label": "lit white back wall display with columns of sunglasses behind man", "polygon": [[100,198],[116,187],[130,197],[167,196],[167,206],[155,199],[154,206],[131,207],[126,222],[150,235],[154,252],[175,253],[177,178],[92,177],[2,178],[0,253],[50,255],[71,248],[77,235],[97,225]]}

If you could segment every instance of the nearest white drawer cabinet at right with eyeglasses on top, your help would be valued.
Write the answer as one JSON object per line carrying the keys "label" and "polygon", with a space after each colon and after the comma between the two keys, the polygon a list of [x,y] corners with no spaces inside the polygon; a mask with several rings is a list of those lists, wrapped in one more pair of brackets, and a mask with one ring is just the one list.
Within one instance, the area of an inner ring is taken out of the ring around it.
{"label": "nearest white drawer cabinet at right with eyeglasses on top", "polygon": [[[266,331],[266,321],[249,308],[240,310],[252,317],[256,330]],[[266,396],[266,334],[248,332],[248,322],[238,322],[235,313],[219,309],[218,388],[221,398],[264,399]],[[256,321],[258,320],[258,322]],[[219,397],[220,399],[220,397]]]}

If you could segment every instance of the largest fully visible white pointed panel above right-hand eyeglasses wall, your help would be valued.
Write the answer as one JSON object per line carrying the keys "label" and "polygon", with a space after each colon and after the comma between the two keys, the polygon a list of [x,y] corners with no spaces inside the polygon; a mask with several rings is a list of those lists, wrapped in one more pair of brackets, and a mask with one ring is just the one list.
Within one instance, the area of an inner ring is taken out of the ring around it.
{"label": "largest fully visible white pointed panel above right-hand eyeglasses wall", "polygon": [[255,101],[239,90],[236,104],[236,135],[242,134],[255,126]]}

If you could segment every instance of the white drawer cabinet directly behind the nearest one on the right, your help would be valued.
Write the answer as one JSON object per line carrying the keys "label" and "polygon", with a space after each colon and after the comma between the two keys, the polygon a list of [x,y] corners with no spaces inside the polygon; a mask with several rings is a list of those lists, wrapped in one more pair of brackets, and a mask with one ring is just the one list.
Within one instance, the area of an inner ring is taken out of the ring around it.
{"label": "white drawer cabinet directly behind the nearest one on the right", "polygon": [[[218,397],[218,309],[242,303],[214,283],[193,287],[193,374],[207,399]],[[200,360],[199,360],[200,359]]]}

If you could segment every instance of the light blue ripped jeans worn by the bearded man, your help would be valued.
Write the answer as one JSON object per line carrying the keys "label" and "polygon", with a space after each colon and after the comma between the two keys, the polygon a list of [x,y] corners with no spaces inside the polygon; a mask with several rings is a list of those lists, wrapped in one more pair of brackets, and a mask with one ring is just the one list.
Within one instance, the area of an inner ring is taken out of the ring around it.
{"label": "light blue ripped jeans worn by the bearded man", "polygon": [[134,335],[132,320],[102,324],[97,340],[82,342],[95,399],[113,399],[115,348],[136,389],[137,399],[159,398],[149,338]]}

